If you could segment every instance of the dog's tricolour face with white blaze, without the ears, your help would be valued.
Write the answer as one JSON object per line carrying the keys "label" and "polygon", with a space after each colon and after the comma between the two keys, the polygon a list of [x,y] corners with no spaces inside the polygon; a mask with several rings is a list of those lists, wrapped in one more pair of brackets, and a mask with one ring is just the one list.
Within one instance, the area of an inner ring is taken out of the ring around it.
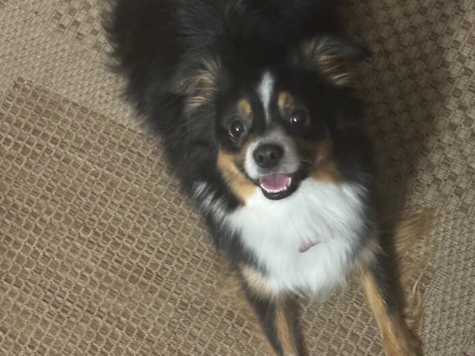
{"label": "dog's tricolour face with white blaze, without the ears", "polygon": [[328,125],[336,115],[333,89],[291,69],[263,71],[257,78],[223,99],[218,117],[218,167],[238,197],[245,200],[259,187],[279,200],[302,179],[337,179]]}

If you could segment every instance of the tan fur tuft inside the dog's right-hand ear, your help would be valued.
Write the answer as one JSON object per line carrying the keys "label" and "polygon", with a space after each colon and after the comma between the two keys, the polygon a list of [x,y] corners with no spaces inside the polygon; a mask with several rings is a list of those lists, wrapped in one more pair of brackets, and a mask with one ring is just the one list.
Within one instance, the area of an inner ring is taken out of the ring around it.
{"label": "tan fur tuft inside the dog's right-hand ear", "polygon": [[336,86],[348,86],[352,75],[343,58],[333,54],[332,47],[321,39],[313,39],[301,46],[305,57]]}

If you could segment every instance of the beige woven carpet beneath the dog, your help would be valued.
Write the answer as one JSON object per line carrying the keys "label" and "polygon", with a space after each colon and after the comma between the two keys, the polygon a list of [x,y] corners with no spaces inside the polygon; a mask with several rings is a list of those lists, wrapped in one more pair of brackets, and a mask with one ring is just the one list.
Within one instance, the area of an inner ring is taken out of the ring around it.
{"label": "beige woven carpet beneath the dog", "polygon": [[[133,0],[131,0],[133,1]],[[265,355],[197,214],[105,68],[95,0],[0,0],[0,355]],[[432,207],[427,355],[475,356],[475,3],[347,0],[394,210]],[[310,355],[382,355],[355,283]]]}

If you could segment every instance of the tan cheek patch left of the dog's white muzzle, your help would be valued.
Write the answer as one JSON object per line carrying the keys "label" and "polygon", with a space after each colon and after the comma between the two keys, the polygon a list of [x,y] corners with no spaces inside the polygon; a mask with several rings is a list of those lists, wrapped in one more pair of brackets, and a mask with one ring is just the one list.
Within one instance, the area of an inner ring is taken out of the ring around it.
{"label": "tan cheek patch left of the dog's white muzzle", "polygon": [[244,204],[246,199],[256,191],[257,186],[238,170],[236,166],[238,160],[242,161],[242,158],[222,150],[218,152],[218,167],[233,192],[238,196],[241,203]]}

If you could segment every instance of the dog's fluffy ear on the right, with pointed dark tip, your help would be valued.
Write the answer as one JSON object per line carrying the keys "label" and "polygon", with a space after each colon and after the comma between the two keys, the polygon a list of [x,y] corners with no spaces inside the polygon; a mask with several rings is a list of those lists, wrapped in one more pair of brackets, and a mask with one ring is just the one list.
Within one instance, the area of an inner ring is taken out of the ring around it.
{"label": "dog's fluffy ear on the right, with pointed dark tip", "polygon": [[340,87],[350,84],[350,64],[371,56],[371,51],[366,47],[330,35],[304,42],[300,46],[300,53],[308,64]]}

